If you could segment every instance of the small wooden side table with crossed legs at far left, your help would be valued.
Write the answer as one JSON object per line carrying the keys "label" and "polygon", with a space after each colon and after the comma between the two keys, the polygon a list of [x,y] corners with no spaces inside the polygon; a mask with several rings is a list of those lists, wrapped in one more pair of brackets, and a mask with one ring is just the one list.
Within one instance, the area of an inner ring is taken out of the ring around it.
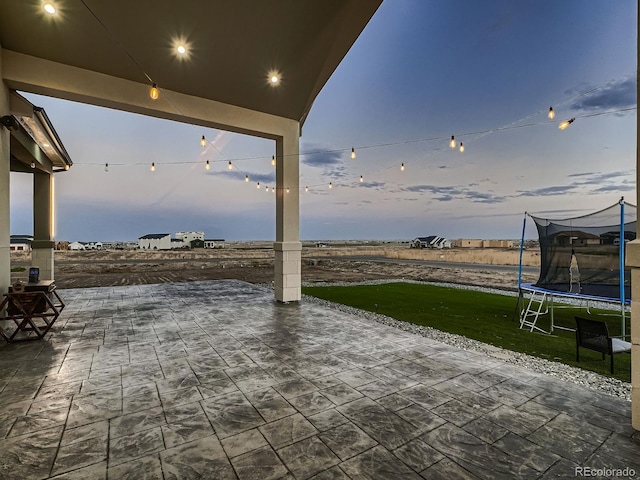
{"label": "small wooden side table with crossed legs at far left", "polygon": [[[15,329],[0,326],[0,335],[8,342],[43,339],[65,307],[53,280],[25,283],[22,292],[4,294],[0,303],[0,325],[13,321]],[[7,322],[8,321],[8,322]]]}

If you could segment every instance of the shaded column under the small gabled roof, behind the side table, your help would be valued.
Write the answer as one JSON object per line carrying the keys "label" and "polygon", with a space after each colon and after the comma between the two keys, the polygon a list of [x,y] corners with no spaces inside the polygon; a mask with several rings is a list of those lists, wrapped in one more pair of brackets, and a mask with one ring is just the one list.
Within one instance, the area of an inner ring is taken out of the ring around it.
{"label": "shaded column under the small gabled roof, behind the side table", "polygon": [[40,269],[40,280],[53,280],[53,175],[33,174],[33,243],[31,266]]}

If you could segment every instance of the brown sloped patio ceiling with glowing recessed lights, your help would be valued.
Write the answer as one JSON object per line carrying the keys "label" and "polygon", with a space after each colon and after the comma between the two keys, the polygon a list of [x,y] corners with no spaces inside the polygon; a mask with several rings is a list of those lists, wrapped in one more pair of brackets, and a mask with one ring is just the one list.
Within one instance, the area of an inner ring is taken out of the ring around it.
{"label": "brown sloped patio ceiling with glowing recessed lights", "polygon": [[[57,0],[50,16],[41,0],[0,0],[0,46],[5,56],[155,82],[161,95],[167,89],[303,122],[381,2]],[[182,57],[178,42],[187,48]],[[267,81],[272,70],[277,88]]]}

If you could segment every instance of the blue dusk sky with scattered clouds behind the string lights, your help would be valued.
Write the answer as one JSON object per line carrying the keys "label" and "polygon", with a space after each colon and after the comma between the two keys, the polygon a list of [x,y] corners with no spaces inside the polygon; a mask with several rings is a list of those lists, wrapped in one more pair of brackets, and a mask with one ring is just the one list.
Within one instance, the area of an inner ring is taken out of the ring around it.
{"label": "blue dusk sky with scattered clouds behind the string lights", "polygon": [[[563,218],[621,196],[635,204],[636,9],[384,0],[303,126],[300,238],[519,238],[525,211]],[[264,188],[275,184],[274,142],[25,96],[74,162],[56,174],[57,240],[184,230],[275,239],[275,194]],[[31,175],[11,174],[12,234],[33,230],[31,188]]]}

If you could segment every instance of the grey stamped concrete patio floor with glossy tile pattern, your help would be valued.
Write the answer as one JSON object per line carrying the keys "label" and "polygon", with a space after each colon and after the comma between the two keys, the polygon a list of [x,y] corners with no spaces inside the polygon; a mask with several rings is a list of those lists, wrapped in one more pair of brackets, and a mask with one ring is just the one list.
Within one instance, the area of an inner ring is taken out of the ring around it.
{"label": "grey stamped concrete patio floor with glossy tile pattern", "polygon": [[61,295],[0,346],[3,479],[640,474],[629,402],[497,359],[238,281]]}

